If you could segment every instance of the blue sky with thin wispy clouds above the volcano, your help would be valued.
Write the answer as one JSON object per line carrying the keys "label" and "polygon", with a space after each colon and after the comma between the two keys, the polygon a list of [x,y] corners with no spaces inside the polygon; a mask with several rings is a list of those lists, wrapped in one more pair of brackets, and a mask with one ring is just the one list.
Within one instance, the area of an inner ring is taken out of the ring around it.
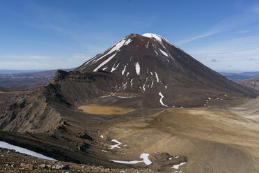
{"label": "blue sky with thin wispy clouds above the volcano", "polygon": [[259,70],[259,1],[0,1],[0,69],[72,68],[157,33],[213,70]]}

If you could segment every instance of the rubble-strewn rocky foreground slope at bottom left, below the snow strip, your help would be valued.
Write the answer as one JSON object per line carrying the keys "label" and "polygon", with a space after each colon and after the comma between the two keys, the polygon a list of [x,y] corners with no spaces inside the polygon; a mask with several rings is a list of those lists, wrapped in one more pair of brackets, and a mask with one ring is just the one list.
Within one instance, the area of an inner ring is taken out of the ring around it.
{"label": "rubble-strewn rocky foreground slope at bottom left, below the snow strip", "polygon": [[120,170],[94,165],[65,163],[45,160],[18,153],[14,150],[0,148],[0,172],[152,172],[152,170]]}

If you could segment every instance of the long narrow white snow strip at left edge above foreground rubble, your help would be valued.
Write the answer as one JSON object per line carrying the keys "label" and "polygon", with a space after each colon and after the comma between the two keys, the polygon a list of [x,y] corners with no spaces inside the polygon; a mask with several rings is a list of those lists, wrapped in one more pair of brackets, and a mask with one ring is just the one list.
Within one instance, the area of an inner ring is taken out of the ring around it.
{"label": "long narrow white snow strip at left edge above foreground rubble", "polygon": [[26,153],[28,155],[31,155],[31,156],[34,156],[34,157],[37,157],[37,158],[43,158],[43,159],[47,159],[47,160],[55,160],[54,158],[49,158],[47,156],[43,156],[40,153],[36,153],[36,152],[31,151],[29,149],[24,149],[24,148],[19,147],[19,146],[8,144],[7,142],[3,142],[3,141],[0,141],[0,147],[5,148],[5,149],[14,149],[16,152]]}

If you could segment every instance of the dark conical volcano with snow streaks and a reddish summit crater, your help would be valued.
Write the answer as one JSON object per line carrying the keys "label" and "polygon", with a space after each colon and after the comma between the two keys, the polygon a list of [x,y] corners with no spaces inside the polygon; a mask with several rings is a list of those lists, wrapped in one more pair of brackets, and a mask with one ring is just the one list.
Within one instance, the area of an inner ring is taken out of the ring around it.
{"label": "dark conical volcano with snow streaks and a reddish summit crater", "polygon": [[122,79],[110,96],[140,98],[144,107],[206,106],[209,98],[256,96],[154,33],[132,33],[75,70]]}

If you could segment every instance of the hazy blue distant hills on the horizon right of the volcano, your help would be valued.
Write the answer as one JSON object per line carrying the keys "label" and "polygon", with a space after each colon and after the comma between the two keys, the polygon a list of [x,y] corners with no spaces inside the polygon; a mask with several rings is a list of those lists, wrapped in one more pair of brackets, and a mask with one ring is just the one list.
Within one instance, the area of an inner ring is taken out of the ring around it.
{"label": "hazy blue distant hills on the horizon right of the volcano", "polygon": [[247,80],[253,77],[259,77],[259,71],[244,72],[244,73],[220,73],[220,74],[228,78],[228,80],[233,80],[233,81]]}

